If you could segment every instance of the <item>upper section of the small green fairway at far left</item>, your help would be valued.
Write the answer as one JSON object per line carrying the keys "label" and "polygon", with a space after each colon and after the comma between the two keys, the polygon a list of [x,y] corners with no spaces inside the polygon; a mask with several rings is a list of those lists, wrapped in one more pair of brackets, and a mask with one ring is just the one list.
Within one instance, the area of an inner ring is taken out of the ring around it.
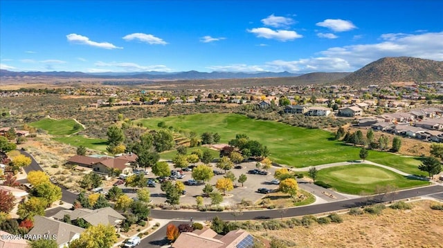
{"label": "upper section of the small green fairway at far left", "polygon": [[75,125],[78,124],[75,120],[54,120],[49,118],[44,118],[39,120],[38,122],[32,122],[29,125],[35,128],[42,128],[48,131],[51,135],[71,135],[73,133],[77,133],[78,131],[82,131],[84,128],[79,126],[75,129]]}

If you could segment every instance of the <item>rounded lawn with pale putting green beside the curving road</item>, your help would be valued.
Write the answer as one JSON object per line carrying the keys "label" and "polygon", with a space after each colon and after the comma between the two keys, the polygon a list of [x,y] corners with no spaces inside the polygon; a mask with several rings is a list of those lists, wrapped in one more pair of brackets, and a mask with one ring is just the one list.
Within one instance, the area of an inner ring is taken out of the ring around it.
{"label": "rounded lawn with pale putting green beside the curving road", "polygon": [[360,195],[375,193],[375,187],[392,185],[407,189],[428,185],[429,182],[406,178],[395,172],[370,164],[336,166],[318,171],[318,181],[332,185],[338,192]]}

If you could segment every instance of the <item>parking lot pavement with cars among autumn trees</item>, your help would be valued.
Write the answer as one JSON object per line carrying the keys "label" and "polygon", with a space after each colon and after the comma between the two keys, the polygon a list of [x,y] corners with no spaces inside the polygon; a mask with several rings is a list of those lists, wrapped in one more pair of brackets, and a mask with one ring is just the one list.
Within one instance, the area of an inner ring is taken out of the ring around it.
{"label": "parking lot pavement with cars among autumn trees", "polygon": [[[235,204],[237,202],[241,202],[242,199],[244,200],[251,200],[252,202],[255,202],[262,198],[265,194],[264,193],[258,193],[258,188],[267,188],[267,189],[277,189],[278,185],[270,184],[271,180],[273,180],[273,174],[275,171],[274,167],[271,167],[271,169],[268,170],[267,175],[259,175],[259,174],[249,174],[248,170],[256,169],[255,162],[244,162],[240,164],[242,166],[242,169],[230,169],[235,175],[235,177],[238,179],[239,175],[245,174],[247,176],[246,182],[244,182],[244,187],[242,187],[242,184],[237,182],[235,180],[233,191],[226,192],[226,196],[224,197],[224,201],[221,203],[221,205],[231,205]],[[223,170],[218,169],[215,164],[212,164],[212,168],[215,171],[220,171],[224,173]],[[172,166],[172,163],[170,163],[170,169],[177,170]],[[145,175],[146,178],[156,178],[156,175],[152,174],[150,169],[147,169],[149,171],[148,175]],[[186,182],[190,179],[192,179],[192,171],[183,171],[184,178],[183,179],[177,179],[181,182]],[[214,175],[214,177],[210,180],[210,184],[215,185],[217,180],[219,178],[223,178],[224,174],[221,175]],[[136,197],[135,191],[132,190],[132,188],[125,187],[124,184],[120,184],[118,187],[122,188],[129,197]],[[199,185],[186,185],[186,195],[183,195],[180,199],[180,204],[196,204],[195,198],[198,195],[203,194],[203,188],[204,184]],[[111,187],[105,187],[105,191],[108,191]],[[151,200],[154,202],[154,204],[161,204],[165,202],[166,198],[160,189],[160,183],[156,183],[156,187],[149,187],[150,193],[151,193]],[[214,187],[215,189],[215,187]],[[217,190],[217,189],[215,189]],[[204,204],[210,204],[210,198],[204,198]]]}

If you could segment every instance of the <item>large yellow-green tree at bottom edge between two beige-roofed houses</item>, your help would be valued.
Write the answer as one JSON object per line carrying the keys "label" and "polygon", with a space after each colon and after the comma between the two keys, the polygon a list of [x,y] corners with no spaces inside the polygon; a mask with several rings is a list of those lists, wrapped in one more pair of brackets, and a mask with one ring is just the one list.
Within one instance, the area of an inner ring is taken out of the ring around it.
{"label": "large yellow-green tree at bottom edge between two beige-roofed houses", "polygon": [[73,240],[69,248],[111,248],[117,242],[117,233],[113,226],[98,224],[88,227]]}

